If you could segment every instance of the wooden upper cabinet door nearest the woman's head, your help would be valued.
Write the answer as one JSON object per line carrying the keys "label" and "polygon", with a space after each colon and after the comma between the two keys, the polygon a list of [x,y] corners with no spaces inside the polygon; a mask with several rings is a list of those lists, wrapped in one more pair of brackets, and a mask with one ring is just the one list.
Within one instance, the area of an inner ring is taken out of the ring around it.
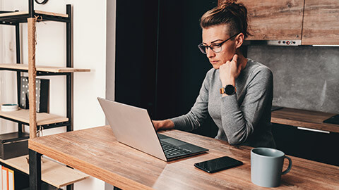
{"label": "wooden upper cabinet door nearest the woman's head", "polygon": [[[219,0],[219,3],[222,0]],[[248,11],[251,40],[300,40],[304,0],[239,0]]]}

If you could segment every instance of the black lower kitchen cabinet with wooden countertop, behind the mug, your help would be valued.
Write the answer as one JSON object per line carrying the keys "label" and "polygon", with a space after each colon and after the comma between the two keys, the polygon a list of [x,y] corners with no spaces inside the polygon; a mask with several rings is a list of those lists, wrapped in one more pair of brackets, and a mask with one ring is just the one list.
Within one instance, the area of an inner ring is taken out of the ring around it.
{"label": "black lower kitchen cabinet with wooden countertop, behind the mug", "polygon": [[291,156],[339,165],[339,125],[324,123],[334,113],[282,108],[272,112],[277,148]]}

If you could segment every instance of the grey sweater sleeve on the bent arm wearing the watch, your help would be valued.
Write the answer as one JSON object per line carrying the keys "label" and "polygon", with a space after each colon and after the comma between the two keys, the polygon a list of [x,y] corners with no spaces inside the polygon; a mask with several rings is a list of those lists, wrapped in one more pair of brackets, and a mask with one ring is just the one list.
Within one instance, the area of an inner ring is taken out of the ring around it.
{"label": "grey sweater sleeve on the bent arm wearing the watch", "polygon": [[242,144],[254,132],[273,96],[273,74],[268,68],[254,71],[241,105],[237,94],[222,97],[222,128],[230,144]]}

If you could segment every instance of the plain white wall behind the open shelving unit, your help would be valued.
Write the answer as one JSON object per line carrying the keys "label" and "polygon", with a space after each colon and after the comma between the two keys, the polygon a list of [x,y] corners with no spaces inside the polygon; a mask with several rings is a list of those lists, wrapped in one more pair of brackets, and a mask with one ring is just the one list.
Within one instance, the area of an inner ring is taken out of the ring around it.
{"label": "plain white wall behind the open shelving unit", "polygon": [[[28,11],[28,0],[2,1],[3,10]],[[66,4],[73,5],[73,67],[91,69],[91,72],[75,73],[73,77],[73,129],[105,125],[105,115],[96,98],[105,97],[107,2],[106,0],[58,0],[48,1],[45,5],[35,4],[35,9],[66,13]],[[66,66],[65,31],[64,23],[37,23],[36,65]],[[4,39],[15,42],[14,35],[11,34],[6,33]],[[27,24],[21,24],[22,63],[26,64],[28,63],[27,43]],[[4,48],[8,49],[6,46]],[[50,79],[49,113],[66,116],[66,77],[43,76],[41,78]],[[1,82],[2,79],[3,77]],[[16,93],[16,89],[13,90]],[[48,129],[44,130],[44,135],[65,131],[66,127]],[[74,187],[81,190],[104,189],[104,182],[90,177],[76,183]]]}

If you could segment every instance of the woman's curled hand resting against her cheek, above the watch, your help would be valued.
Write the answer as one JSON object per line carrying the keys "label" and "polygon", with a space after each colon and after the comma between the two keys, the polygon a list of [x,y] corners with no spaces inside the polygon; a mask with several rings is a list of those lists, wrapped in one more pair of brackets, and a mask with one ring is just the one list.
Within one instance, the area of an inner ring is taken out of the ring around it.
{"label": "woman's curled hand resting against her cheek, above the watch", "polygon": [[238,64],[238,55],[234,54],[231,61],[226,61],[226,63],[222,64],[219,68],[222,87],[225,87],[227,84],[235,86],[235,80],[241,71],[242,67]]}

